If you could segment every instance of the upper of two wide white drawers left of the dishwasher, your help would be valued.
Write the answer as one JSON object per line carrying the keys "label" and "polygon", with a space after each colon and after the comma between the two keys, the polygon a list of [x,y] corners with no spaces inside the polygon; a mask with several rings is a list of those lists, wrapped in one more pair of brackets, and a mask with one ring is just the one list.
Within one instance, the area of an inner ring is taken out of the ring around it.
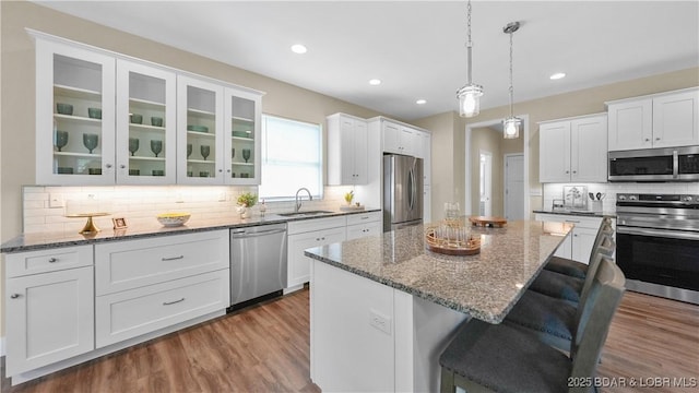
{"label": "upper of two wide white drawers left of the dishwasher", "polygon": [[95,246],[97,296],[228,267],[228,231]]}

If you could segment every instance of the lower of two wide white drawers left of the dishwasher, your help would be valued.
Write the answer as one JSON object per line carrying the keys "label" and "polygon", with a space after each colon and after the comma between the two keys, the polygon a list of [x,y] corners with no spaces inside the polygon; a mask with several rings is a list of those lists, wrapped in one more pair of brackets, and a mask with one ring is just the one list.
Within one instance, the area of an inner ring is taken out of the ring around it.
{"label": "lower of two wide white drawers left of the dishwasher", "polygon": [[229,270],[151,285],[95,300],[97,348],[223,310]]}

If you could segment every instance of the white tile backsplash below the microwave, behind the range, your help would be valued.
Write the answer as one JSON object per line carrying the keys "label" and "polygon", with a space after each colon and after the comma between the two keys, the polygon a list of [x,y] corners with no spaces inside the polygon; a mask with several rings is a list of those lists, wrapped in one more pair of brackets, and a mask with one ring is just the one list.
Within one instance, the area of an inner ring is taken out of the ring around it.
{"label": "white tile backsplash below the microwave, behind the range", "polygon": [[[694,194],[699,195],[699,182],[664,182],[664,183],[636,183],[636,182],[614,182],[614,183],[544,183],[543,210],[550,210],[554,200],[562,200],[564,188],[570,186],[583,186],[588,192],[605,194],[602,200],[602,212],[613,214],[616,212],[617,193],[657,193],[657,194]],[[593,209],[593,204],[588,200],[588,210]]]}

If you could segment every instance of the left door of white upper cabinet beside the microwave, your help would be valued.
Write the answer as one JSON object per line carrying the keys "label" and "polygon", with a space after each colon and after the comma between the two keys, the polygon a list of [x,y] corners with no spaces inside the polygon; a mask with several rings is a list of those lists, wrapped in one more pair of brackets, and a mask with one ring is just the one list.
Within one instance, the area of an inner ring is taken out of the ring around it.
{"label": "left door of white upper cabinet beside the microwave", "polygon": [[570,121],[542,124],[538,142],[538,180],[570,181]]}

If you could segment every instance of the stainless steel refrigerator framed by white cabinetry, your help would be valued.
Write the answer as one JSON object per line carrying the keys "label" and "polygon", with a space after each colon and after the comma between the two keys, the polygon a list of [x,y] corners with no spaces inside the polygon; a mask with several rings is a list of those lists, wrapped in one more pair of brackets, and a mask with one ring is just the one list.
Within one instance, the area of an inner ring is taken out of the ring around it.
{"label": "stainless steel refrigerator framed by white cabinetry", "polygon": [[423,222],[423,159],[383,156],[383,231]]}

